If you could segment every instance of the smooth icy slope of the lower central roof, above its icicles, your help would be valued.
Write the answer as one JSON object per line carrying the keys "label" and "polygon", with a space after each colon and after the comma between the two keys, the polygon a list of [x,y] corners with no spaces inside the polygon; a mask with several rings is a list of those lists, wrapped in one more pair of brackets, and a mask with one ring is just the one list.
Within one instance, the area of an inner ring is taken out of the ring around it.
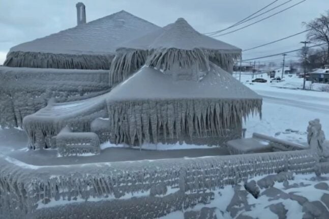
{"label": "smooth icy slope of the lower central roof, above its icicles", "polygon": [[143,67],[114,87],[107,96],[108,101],[200,98],[261,99],[257,93],[214,64],[199,81],[174,80],[171,75]]}

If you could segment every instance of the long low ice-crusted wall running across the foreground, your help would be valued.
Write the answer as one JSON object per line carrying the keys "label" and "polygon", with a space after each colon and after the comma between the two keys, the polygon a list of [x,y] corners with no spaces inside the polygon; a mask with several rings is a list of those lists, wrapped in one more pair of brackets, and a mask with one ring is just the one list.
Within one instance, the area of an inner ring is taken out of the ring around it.
{"label": "long low ice-crusted wall running across the foreground", "polygon": [[[0,154],[0,216],[31,212],[37,214],[33,218],[85,218],[95,213],[99,218],[154,218],[204,203],[220,186],[282,171],[311,173],[318,162],[312,149],[47,167]],[[59,203],[72,204],[56,206]]]}

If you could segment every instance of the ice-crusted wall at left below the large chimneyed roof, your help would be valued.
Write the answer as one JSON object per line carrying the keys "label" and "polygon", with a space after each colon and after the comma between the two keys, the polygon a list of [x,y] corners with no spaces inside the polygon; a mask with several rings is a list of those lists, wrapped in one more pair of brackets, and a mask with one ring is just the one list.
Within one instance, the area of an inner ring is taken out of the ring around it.
{"label": "ice-crusted wall at left below the large chimneyed roof", "polygon": [[0,67],[0,125],[22,126],[24,116],[58,102],[99,96],[110,90],[108,71]]}

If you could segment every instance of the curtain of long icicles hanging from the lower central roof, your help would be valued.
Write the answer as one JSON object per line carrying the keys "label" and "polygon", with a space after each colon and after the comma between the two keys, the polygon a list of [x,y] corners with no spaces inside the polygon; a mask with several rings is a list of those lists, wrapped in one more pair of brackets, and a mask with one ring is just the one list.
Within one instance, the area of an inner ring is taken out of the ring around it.
{"label": "curtain of long icicles hanging from the lower central roof", "polygon": [[[241,127],[242,115],[261,106],[260,101],[244,100],[108,100],[110,129],[114,142],[134,144],[158,143],[158,139],[181,139],[229,135],[227,130]],[[246,106],[242,108],[241,106]],[[126,141],[126,140],[128,141]],[[143,139],[143,141],[142,141]],[[136,143],[136,142],[135,142]]]}

